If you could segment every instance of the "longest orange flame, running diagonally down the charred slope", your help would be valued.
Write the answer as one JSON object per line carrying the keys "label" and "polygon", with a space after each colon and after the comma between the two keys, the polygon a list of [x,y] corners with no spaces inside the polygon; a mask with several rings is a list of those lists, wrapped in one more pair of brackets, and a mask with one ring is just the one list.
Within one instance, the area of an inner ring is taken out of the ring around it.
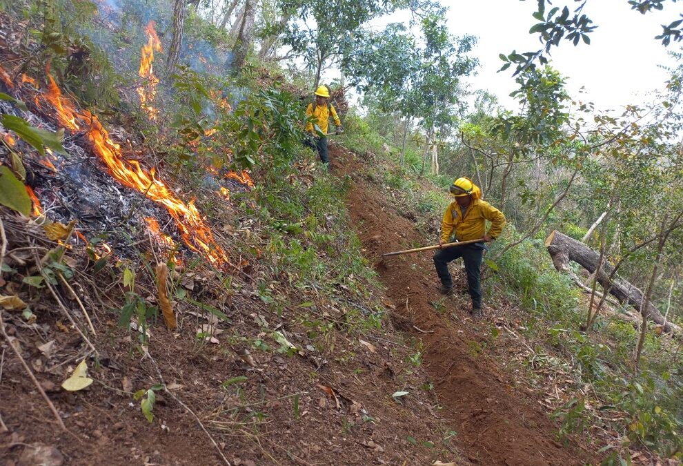
{"label": "longest orange flame, running diagonally down the charred slope", "polygon": [[77,111],[74,104],[61,95],[52,76],[48,74],[48,77],[50,91],[45,97],[57,110],[59,123],[72,131],[85,131],[93,150],[101,157],[115,179],[124,186],[145,193],[151,200],[164,206],[175,220],[184,242],[192,251],[206,254],[214,265],[224,264],[227,261],[226,253],[213,239],[211,230],[197,211],[194,202],[182,202],[164,182],[155,178],[153,170],[144,170],[137,160],[124,159],[121,146],[110,139],[109,133],[102,127],[97,116],[88,110]]}

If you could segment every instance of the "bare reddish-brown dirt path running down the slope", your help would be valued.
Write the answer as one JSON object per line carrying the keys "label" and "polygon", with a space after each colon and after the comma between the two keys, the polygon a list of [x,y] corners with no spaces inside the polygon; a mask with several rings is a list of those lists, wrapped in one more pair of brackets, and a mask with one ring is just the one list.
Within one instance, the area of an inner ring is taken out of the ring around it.
{"label": "bare reddish-brown dirt path running down the slope", "polygon": [[[358,162],[345,150],[330,148],[330,159],[335,164],[333,172],[358,173]],[[580,465],[590,460],[583,452],[557,443],[557,429],[546,412],[533,404],[528,393],[514,388],[495,361],[487,359],[485,344],[491,324],[469,317],[466,295],[448,298],[446,312],[435,309],[432,303],[442,296],[436,291],[430,253],[379,260],[382,253],[415,247],[425,240],[414,222],[399,215],[375,184],[361,176],[353,178],[346,202],[366,257],[375,261],[395,305],[397,327],[422,338],[424,361],[444,416],[452,419],[458,445],[469,460],[486,465]],[[456,288],[458,282],[464,286],[462,275],[455,280]]]}

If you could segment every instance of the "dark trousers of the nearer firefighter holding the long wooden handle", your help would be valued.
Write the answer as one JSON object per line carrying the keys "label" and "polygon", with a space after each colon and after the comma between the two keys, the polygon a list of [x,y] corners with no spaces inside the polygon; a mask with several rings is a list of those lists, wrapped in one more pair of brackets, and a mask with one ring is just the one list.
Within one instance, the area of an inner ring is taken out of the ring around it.
{"label": "dark trousers of the nearer firefighter holding the long wooden handle", "polygon": [[437,275],[441,279],[444,287],[453,287],[453,277],[448,271],[448,262],[462,258],[465,263],[467,273],[467,288],[472,298],[472,307],[482,308],[482,282],[479,281],[479,274],[482,269],[482,258],[484,257],[484,244],[475,243],[467,246],[455,246],[442,249],[434,255],[434,265]]}

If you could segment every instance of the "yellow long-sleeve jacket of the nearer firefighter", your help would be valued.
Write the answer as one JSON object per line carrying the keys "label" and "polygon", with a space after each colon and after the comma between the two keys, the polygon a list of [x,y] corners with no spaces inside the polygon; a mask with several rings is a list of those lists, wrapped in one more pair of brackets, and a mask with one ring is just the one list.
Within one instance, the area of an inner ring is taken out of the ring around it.
{"label": "yellow long-sleeve jacket of the nearer firefighter", "polygon": [[463,218],[460,206],[456,201],[448,204],[441,222],[441,239],[448,242],[455,231],[458,241],[477,240],[486,234],[486,220],[491,222],[488,235],[495,238],[505,226],[505,215],[497,208],[480,199],[473,199],[467,206]]}

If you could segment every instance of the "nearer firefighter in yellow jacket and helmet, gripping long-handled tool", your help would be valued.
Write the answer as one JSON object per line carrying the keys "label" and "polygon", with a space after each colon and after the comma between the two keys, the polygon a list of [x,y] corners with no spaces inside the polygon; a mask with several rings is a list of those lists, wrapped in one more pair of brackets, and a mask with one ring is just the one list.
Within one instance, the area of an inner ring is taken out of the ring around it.
{"label": "nearer firefighter in yellow jacket and helmet, gripping long-handled tool", "polygon": [[[488,202],[482,201],[482,191],[471,179],[461,177],[451,184],[451,194],[455,200],[448,204],[441,224],[439,245],[451,242],[451,235],[455,233],[455,240],[468,241],[482,238],[481,242],[441,249],[434,255],[434,265],[437,275],[441,279],[439,292],[453,294],[453,278],[448,272],[448,262],[462,258],[467,273],[467,287],[472,299],[472,315],[482,316],[482,284],[479,273],[482,267],[485,243],[495,240],[505,226],[505,216]],[[486,231],[486,220],[491,222],[491,228]]]}

